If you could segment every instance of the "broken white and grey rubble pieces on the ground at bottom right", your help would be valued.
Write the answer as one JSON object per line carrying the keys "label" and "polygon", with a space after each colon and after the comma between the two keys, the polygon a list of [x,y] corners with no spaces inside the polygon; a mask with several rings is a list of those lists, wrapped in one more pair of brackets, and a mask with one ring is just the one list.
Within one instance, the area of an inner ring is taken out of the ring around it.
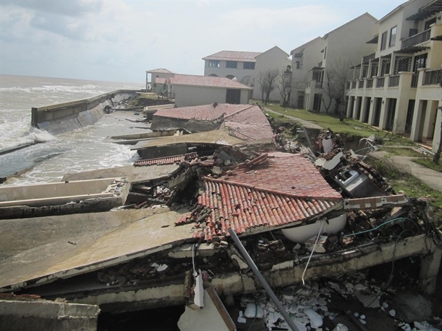
{"label": "broken white and grey rubble pieces on the ground at bottom right", "polygon": [[[320,279],[308,281],[305,285],[292,285],[279,289],[276,294],[300,331],[351,330],[342,322],[333,322],[339,314],[334,311],[333,307],[333,299],[336,297],[343,299],[356,297],[365,308],[378,310],[380,314],[389,314],[401,330],[441,331],[427,321],[414,321],[413,323],[402,321],[396,311],[389,307],[387,296],[385,296],[385,301],[383,300],[383,289],[375,283],[374,279],[367,279],[363,272],[347,274],[340,279]],[[380,300],[383,300],[383,303],[380,304]],[[243,295],[240,305],[244,311],[240,310],[238,323],[246,323],[247,320],[244,317],[264,319],[268,330],[289,330],[289,325],[264,290],[254,295]],[[352,312],[352,315],[361,325],[369,325],[370,320],[362,312]],[[436,321],[437,318],[434,320]],[[326,324],[334,325],[334,328],[329,328],[325,326]]]}

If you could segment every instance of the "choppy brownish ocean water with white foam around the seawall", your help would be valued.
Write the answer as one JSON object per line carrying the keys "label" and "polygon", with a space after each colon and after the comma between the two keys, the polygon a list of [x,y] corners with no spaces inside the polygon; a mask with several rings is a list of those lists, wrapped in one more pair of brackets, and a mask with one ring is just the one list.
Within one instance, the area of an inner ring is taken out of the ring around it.
{"label": "choppy brownish ocean water with white foam around the seawall", "polygon": [[141,88],[143,83],[0,75],[0,150],[37,142],[0,155],[0,177],[9,177],[36,162],[8,183],[53,182],[66,173],[132,164],[138,157],[130,146],[104,142],[115,134],[146,132],[133,128],[121,115],[106,114],[93,126],[54,136],[30,126],[31,108]]}

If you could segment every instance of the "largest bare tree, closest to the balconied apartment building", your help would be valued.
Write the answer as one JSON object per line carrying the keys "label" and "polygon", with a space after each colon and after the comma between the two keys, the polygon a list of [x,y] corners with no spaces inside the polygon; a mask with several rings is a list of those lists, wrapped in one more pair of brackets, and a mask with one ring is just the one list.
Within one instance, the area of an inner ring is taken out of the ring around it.
{"label": "largest bare tree, closest to the balconied apartment building", "polygon": [[350,63],[339,59],[330,63],[325,70],[324,92],[329,97],[329,104],[323,103],[328,114],[332,101],[335,101],[335,114],[339,114],[339,120],[344,121],[345,117],[345,84],[351,79]]}

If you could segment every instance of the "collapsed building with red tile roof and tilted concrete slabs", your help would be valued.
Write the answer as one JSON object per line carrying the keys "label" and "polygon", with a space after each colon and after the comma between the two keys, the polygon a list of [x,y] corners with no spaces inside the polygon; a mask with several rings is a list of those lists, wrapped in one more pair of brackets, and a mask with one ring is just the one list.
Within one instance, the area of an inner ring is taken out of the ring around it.
{"label": "collapsed building with red tile roof and tilted concrete slabs", "polygon": [[[113,313],[186,305],[197,313],[185,314],[198,314],[210,302],[214,315],[204,318],[222,318],[207,330],[236,330],[223,302],[262,283],[231,231],[271,288],[419,257],[419,287],[434,292],[441,239],[425,201],[396,194],[333,132],[304,152],[275,148],[258,106],[172,108],[155,125],[197,128],[198,119],[215,117],[216,127],[139,141],[133,169],[106,170],[126,172],[131,183],[125,203],[110,212],[3,220],[3,240],[20,247],[3,252],[1,292]],[[49,233],[55,223],[60,232]],[[17,225],[39,230],[24,239]]]}

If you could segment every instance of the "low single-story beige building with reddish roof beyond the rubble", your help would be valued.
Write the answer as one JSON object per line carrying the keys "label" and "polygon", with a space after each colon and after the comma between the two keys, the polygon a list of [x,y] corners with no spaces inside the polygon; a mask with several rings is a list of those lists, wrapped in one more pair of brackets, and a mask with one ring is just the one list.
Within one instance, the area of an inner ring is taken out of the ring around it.
{"label": "low single-story beige building with reddish roof beyond the rubble", "polygon": [[167,79],[169,96],[175,106],[188,107],[213,103],[247,104],[252,88],[226,77],[175,74]]}

